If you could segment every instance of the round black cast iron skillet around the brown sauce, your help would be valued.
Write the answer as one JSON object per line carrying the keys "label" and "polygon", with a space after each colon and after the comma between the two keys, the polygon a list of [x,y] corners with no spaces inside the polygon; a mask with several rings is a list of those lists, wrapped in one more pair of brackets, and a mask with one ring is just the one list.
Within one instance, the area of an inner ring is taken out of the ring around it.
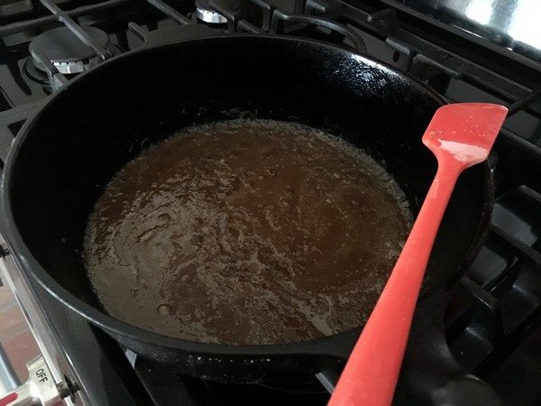
{"label": "round black cast iron skillet around the brown sauce", "polygon": [[[344,137],[390,171],[415,210],[436,171],[421,135],[443,103],[403,73],[314,41],[217,36],[130,52],[70,81],[23,126],[5,162],[2,232],[14,260],[51,295],[124,346],[175,364],[182,374],[254,383],[336,370],[361,327],[291,344],[221,346],[109,317],[81,261],[87,216],[115,171],[151,143],[186,125],[238,116],[294,121]],[[458,182],[425,291],[452,281],[476,254],[490,211],[485,162]]]}

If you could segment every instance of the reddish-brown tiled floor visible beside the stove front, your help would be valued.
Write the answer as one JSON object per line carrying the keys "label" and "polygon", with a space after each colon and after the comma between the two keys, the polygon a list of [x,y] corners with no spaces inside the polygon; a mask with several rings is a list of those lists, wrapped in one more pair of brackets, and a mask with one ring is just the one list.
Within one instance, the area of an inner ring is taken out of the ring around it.
{"label": "reddish-brown tiled floor visible beside the stove front", "polygon": [[[8,286],[0,286],[0,344],[21,382],[28,378],[26,363],[40,354],[32,332]],[[5,388],[0,383],[0,395]]]}

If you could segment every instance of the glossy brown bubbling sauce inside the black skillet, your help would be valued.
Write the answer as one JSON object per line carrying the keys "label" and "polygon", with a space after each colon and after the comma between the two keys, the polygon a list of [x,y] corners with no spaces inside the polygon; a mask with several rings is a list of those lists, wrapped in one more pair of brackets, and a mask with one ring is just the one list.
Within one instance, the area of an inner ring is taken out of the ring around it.
{"label": "glossy brown bubbling sauce inside the black skillet", "polygon": [[302,125],[192,127],[129,162],[85,240],[114,317],[199,342],[332,335],[368,317],[410,226],[380,165]]}

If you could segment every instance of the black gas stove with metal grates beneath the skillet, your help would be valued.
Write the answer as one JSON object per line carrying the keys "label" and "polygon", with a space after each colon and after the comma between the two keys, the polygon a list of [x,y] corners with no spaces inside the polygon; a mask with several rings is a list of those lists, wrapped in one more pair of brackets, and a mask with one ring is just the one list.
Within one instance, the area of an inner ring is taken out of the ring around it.
{"label": "black gas stove with metal grates beneath the skillet", "polygon": [[[419,300],[395,403],[538,404],[541,44],[527,33],[536,23],[532,3],[504,3],[0,1],[0,155],[50,94],[79,73],[207,30],[335,42],[407,71],[449,101],[509,106],[490,158],[496,203],[486,243],[454,289],[442,286]],[[119,346],[27,278],[5,250],[2,256],[2,281],[41,348],[44,364],[29,368],[50,370],[55,383],[32,404],[314,405],[333,390],[330,372],[290,387],[179,375]]]}

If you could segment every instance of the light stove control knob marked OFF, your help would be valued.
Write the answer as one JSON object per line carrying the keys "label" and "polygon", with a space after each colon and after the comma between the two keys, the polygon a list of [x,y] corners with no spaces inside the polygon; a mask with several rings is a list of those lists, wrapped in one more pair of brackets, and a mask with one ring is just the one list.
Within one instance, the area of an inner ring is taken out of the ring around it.
{"label": "light stove control knob marked OFF", "polygon": [[28,381],[13,392],[0,398],[0,406],[64,406],[63,398],[70,395],[66,384],[57,384],[50,374],[49,367],[42,356],[26,364]]}

